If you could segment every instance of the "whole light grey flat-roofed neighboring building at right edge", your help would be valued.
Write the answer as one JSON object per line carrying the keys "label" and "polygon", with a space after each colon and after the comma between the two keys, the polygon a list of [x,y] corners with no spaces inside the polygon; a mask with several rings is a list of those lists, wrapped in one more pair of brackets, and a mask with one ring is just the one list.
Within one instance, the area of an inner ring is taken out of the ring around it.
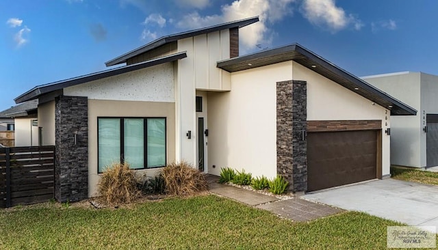
{"label": "whole light grey flat-roofed neighboring building at right edge", "polygon": [[391,117],[391,164],[438,166],[438,76],[398,72],[363,79],[418,110]]}

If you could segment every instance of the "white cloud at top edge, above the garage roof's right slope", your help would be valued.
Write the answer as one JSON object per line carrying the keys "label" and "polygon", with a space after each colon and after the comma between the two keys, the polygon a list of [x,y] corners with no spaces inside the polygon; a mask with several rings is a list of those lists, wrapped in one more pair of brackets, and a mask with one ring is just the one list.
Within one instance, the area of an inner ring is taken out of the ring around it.
{"label": "white cloud at top edge, above the garage roof's right slope", "polygon": [[349,25],[356,30],[364,26],[361,20],[337,7],[335,0],[304,0],[302,14],[311,24],[329,28],[333,32],[345,29]]}

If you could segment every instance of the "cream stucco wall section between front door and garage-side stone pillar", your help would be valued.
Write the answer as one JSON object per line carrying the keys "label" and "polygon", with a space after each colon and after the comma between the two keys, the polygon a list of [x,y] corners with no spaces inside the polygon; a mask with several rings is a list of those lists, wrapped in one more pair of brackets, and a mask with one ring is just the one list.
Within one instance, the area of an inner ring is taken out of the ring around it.
{"label": "cream stucco wall section between front door and garage-side stone pillar", "polygon": [[276,82],[290,79],[288,61],[234,72],[231,92],[209,92],[209,173],[232,167],[276,176]]}

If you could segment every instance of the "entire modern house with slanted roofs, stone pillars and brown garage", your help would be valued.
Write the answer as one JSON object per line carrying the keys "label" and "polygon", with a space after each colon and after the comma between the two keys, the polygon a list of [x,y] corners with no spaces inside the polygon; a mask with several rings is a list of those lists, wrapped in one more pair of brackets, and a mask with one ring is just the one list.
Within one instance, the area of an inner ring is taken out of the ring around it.
{"label": "entire modern house with slanted roofs, stone pillars and brown garage", "polygon": [[278,173],[293,192],[389,176],[389,115],[415,109],[298,44],[240,56],[239,29],[258,20],[165,36],[106,63],[126,66],[18,96],[39,100],[42,144],[56,145],[56,199],[96,195],[116,161]]}

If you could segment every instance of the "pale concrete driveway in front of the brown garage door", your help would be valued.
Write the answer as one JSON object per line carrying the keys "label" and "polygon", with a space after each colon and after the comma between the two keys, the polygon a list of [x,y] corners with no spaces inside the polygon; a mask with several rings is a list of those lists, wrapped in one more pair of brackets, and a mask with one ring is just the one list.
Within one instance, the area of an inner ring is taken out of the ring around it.
{"label": "pale concrete driveway in front of the brown garage door", "polygon": [[372,180],[309,193],[302,198],[408,225],[438,227],[438,186],[393,179]]}

